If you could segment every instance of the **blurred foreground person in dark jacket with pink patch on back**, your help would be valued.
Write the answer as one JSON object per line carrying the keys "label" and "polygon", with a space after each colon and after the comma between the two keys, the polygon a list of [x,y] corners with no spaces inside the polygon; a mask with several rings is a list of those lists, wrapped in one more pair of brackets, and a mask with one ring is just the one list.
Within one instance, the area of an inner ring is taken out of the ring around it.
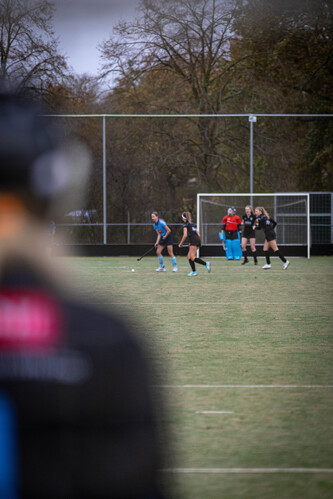
{"label": "blurred foreground person in dark jacket with pink patch on back", "polygon": [[141,346],[67,296],[45,251],[54,208],[89,169],[82,146],[56,136],[0,93],[0,497],[161,498]]}

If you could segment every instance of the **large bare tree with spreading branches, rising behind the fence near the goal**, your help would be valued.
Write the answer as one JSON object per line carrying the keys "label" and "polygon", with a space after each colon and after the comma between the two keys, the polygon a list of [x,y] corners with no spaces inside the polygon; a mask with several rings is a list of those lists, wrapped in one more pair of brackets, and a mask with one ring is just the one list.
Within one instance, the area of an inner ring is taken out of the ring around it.
{"label": "large bare tree with spreading branches, rising behind the fence near the goal", "polygon": [[[119,24],[100,46],[102,76],[137,85],[148,72],[166,71],[188,95],[174,112],[230,112],[243,91],[235,75],[246,59],[235,60],[231,51],[237,5],[238,0],[142,0],[141,17]],[[194,124],[197,137],[188,141],[188,151],[200,183],[223,189],[224,179],[231,178],[226,169],[242,169],[228,157],[229,131],[209,118]]]}

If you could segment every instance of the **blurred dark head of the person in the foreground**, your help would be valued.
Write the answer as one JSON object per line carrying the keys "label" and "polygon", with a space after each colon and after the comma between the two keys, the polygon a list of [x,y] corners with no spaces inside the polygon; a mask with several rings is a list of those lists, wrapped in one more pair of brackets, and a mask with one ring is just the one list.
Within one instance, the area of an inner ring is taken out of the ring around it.
{"label": "blurred dark head of the person in the foreground", "polygon": [[50,217],[84,191],[89,157],[42,112],[24,97],[0,90],[0,196],[10,193],[33,215]]}

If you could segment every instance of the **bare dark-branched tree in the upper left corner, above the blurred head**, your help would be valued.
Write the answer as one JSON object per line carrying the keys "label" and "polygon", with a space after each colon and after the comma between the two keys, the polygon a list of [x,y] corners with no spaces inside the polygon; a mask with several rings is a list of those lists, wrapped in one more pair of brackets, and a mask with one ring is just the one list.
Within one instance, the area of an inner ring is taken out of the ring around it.
{"label": "bare dark-branched tree in the upper left corner, above the blurred head", "polygon": [[0,76],[12,88],[41,92],[64,75],[47,0],[0,0]]}

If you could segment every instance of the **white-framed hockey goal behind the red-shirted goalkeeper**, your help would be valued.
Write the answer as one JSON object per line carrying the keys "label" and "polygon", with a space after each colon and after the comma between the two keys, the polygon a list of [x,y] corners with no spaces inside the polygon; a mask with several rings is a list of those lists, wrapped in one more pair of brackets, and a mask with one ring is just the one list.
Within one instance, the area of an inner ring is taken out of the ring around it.
{"label": "white-framed hockey goal behind the red-shirted goalkeeper", "polygon": [[[310,194],[309,193],[269,193],[269,194],[197,194],[197,227],[204,245],[219,245],[218,233],[221,221],[230,206],[234,206],[242,218],[245,206],[264,206],[277,222],[275,228],[277,243],[285,246],[306,246],[310,258]],[[256,244],[264,244],[264,235],[257,233]]]}

